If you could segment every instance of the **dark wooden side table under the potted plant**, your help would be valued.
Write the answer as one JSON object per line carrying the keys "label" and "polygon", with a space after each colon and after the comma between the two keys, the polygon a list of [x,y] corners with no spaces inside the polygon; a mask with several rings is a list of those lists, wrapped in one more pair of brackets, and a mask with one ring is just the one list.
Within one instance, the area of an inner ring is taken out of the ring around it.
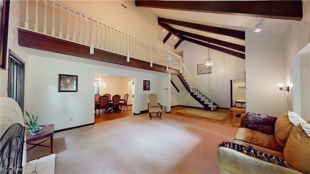
{"label": "dark wooden side table under the potted plant", "polygon": [[[51,152],[53,153],[53,136],[54,136],[54,125],[50,124],[50,125],[41,125],[41,127],[43,128],[40,134],[37,135],[30,135],[30,131],[26,131],[26,143],[28,145],[33,145],[32,147],[30,147],[28,150],[32,149],[35,146],[43,146],[43,147],[50,147]],[[41,145],[43,142],[47,141],[48,139],[50,139],[50,146],[47,145]],[[40,143],[31,143],[34,141],[38,141],[38,140],[43,140]]]}

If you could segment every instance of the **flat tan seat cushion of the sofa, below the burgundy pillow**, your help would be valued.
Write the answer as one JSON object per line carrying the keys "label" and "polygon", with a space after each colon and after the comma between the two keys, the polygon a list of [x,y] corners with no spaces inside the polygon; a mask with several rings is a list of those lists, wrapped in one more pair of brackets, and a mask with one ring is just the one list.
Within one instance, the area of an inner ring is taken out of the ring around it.
{"label": "flat tan seat cushion of the sofa, below the burgundy pillow", "polygon": [[252,145],[283,152],[283,148],[278,144],[274,135],[269,135],[248,128],[238,128],[234,135],[234,140],[243,141]]}

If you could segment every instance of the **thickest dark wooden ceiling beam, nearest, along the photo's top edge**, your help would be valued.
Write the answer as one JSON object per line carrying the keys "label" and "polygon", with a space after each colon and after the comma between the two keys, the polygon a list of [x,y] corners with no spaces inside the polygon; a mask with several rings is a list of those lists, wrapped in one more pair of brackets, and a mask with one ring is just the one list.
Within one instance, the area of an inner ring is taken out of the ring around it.
{"label": "thickest dark wooden ceiling beam, nearest, along the photo's top edge", "polygon": [[302,0],[257,0],[257,1],[171,1],[171,0],[136,0],[136,6],[232,14],[272,19],[302,19]]}

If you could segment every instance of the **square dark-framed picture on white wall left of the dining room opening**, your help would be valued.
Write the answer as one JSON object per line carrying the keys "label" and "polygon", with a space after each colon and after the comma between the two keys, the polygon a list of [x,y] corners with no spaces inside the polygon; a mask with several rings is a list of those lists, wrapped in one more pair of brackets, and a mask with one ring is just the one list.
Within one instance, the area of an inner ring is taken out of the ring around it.
{"label": "square dark-framed picture on white wall left of the dining room opening", "polygon": [[78,75],[59,74],[58,92],[78,92]]}

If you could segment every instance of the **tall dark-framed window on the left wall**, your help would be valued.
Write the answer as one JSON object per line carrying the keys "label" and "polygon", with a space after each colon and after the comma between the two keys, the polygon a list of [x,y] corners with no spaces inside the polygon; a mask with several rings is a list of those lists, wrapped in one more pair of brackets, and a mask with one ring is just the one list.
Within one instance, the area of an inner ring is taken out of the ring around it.
{"label": "tall dark-framed window on the left wall", "polygon": [[14,99],[24,113],[25,62],[9,50],[8,97]]}

